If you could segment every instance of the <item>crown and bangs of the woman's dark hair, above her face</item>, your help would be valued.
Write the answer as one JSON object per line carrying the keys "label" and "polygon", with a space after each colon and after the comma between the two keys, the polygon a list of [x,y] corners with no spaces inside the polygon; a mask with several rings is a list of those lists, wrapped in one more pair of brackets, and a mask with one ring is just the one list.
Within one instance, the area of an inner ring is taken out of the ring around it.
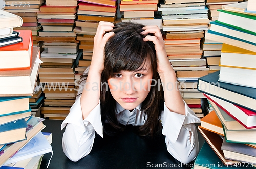
{"label": "crown and bangs of the woman's dark hair, above her face", "polygon": [[[155,57],[154,44],[151,41],[143,41],[145,35],[140,27],[114,27],[115,33],[105,45],[104,69],[108,76],[113,77],[114,73],[124,71],[135,71],[142,69],[148,58],[152,64],[152,57]],[[133,31],[131,31],[133,30]]]}

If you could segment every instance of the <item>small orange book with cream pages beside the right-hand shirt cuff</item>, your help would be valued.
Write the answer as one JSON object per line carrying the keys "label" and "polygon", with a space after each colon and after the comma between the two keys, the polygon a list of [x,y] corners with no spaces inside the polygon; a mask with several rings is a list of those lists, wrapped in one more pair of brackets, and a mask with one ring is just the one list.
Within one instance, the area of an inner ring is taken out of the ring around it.
{"label": "small orange book with cream pages beside the right-hand shirt cuff", "polygon": [[221,121],[214,110],[201,118],[201,128],[224,136]]}

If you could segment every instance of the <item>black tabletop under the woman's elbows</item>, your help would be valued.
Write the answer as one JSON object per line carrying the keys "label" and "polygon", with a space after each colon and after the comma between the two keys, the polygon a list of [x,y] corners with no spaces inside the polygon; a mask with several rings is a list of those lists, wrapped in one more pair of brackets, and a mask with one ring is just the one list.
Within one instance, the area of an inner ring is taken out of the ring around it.
{"label": "black tabletop under the woman's elbows", "polygon": [[[96,134],[94,145],[90,154],[78,162],[69,160],[62,150],[62,135],[60,130],[62,121],[45,120],[46,128],[44,132],[52,133],[53,157],[49,169],[57,168],[190,168],[178,162],[166,149],[165,137],[140,137],[133,127],[127,129],[116,136],[106,136],[101,138]],[[204,138],[199,133],[200,148]],[[41,169],[45,169],[51,154],[45,154],[42,159]],[[191,166],[191,165],[190,165]]]}

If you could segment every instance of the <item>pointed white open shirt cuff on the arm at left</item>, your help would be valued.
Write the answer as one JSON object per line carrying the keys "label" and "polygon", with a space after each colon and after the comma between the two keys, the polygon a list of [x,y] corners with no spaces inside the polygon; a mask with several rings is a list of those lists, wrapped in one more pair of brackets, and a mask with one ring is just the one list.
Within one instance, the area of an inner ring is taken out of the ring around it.
{"label": "pointed white open shirt cuff on the arm at left", "polygon": [[70,108],[70,112],[68,116],[65,118],[65,120],[61,124],[61,130],[68,124],[72,123],[81,128],[81,131],[84,132],[86,129],[91,129],[91,126],[93,126],[94,130],[103,137],[103,126],[101,122],[101,116],[100,116],[100,101],[99,104],[92,109],[90,114],[87,116],[86,119],[83,120],[82,118],[82,109],[81,109],[81,101],[79,97],[73,106]]}

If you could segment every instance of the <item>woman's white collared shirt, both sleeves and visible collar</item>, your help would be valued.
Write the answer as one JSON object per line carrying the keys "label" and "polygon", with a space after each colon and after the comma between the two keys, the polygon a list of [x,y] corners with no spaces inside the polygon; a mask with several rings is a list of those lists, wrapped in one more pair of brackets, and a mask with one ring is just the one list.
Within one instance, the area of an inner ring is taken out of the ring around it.
{"label": "woman's white collared shirt, both sleeves and visible collar", "polygon": [[[189,163],[195,159],[199,151],[197,129],[194,123],[200,122],[200,119],[185,102],[184,104],[185,115],[170,111],[164,104],[160,120],[163,126],[162,134],[166,136],[165,143],[168,152],[180,162]],[[134,126],[144,124],[144,113],[140,111],[141,105],[132,112],[122,108],[118,103],[116,106],[116,116],[119,123]],[[69,159],[78,161],[92,150],[95,131],[103,137],[100,102],[83,120],[79,97],[61,124],[61,130],[65,126],[66,130],[62,138],[63,151]]]}

